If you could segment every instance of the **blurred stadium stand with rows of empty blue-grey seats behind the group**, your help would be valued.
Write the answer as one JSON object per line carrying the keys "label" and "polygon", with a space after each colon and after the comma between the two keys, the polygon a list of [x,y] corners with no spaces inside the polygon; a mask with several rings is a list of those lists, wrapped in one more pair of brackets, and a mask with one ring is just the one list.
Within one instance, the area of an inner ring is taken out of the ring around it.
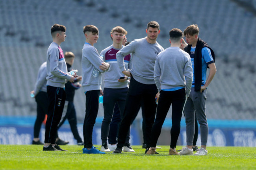
{"label": "blurred stadium stand with rows of empty blue-grey seats behind the group", "polygon": [[[67,27],[63,51],[76,55],[81,74],[83,26],[99,29],[98,52],[112,41],[114,26],[128,31],[128,41],[146,36],[151,20],[160,24],[158,42],[169,47],[169,30],[198,24],[199,37],[216,55],[217,74],[208,89],[208,119],[256,119],[256,0],[0,0],[0,116],[36,115],[30,98],[39,66],[52,42],[50,27]],[[78,121],[85,115],[82,89],[74,99]],[[100,104],[99,116],[103,116]],[[171,112],[168,115],[171,117]],[[138,118],[141,118],[139,114]]]}

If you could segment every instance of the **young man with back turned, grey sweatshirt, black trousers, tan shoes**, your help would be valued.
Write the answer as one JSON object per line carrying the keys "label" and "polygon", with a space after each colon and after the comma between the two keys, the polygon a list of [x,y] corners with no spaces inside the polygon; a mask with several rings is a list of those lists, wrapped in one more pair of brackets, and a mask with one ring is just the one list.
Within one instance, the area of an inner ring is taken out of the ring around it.
{"label": "young man with back turned, grey sweatshirt, black trousers, tan shoes", "polygon": [[163,122],[172,104],[171,145],[169,155],[179,155],[176,143],[180,134],[180,120],[186,97],[192,85],[193,69],[190,56],[180,49],[182,31],[174,28],[169,32],[171,47],[160,52],[156,57],[154,80],[158,93],[156,102],[156,120],[152,127],[152,143],[147,154],[156,153],[156,142],[161,133]]}

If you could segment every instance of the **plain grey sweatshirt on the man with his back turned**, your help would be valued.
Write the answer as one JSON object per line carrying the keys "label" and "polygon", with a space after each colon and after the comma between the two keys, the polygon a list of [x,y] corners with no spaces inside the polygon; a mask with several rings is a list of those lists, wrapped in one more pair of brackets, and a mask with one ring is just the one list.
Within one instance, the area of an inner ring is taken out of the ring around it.
{"label": "plain grey sweatshirt on the man with his back turned", "polygon": [[193,80],[189,54],[178,47],[165,49],[156,57],[154,80],[159,92],[161,89],[186,87],[186,95],[189,96]]}

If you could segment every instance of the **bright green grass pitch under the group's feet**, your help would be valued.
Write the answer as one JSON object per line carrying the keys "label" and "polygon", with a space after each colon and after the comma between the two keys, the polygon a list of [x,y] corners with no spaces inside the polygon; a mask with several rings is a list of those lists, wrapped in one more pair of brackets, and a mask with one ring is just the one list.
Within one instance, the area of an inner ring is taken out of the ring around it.
{"label": "bright green grass pitch under the group's feet", "polygon": [[[82,154],[82,146],[66,145],[67,152],[45,152],[42,145],[0,145],[0,170],[255,170],[256,148],[208,147],[208,155],[146,155],[141,146],[135,153]],[[177,149],[181,149],[177,146]],[[100,146],[98,146],[100,149]]]}

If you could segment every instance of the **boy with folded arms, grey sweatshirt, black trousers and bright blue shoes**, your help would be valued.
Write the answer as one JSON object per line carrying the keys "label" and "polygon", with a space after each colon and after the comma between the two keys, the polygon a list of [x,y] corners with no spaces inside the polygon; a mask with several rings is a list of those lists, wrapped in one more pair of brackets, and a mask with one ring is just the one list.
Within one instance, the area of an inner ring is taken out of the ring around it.
{"label": "boy with folded arms, grey sweatshirt, black trousers and bright blue shoes", "polygon": [[82,50],[82,87],[86,96],[85,118],[83,122],[83,153],[104,154],[93,146],[93,126],[98,115],[101,89],[101,73],[108,71],[110,65],[105,63],[93,46],[98,41],[98,28],[93,25],[83,27],[86,37]]}

